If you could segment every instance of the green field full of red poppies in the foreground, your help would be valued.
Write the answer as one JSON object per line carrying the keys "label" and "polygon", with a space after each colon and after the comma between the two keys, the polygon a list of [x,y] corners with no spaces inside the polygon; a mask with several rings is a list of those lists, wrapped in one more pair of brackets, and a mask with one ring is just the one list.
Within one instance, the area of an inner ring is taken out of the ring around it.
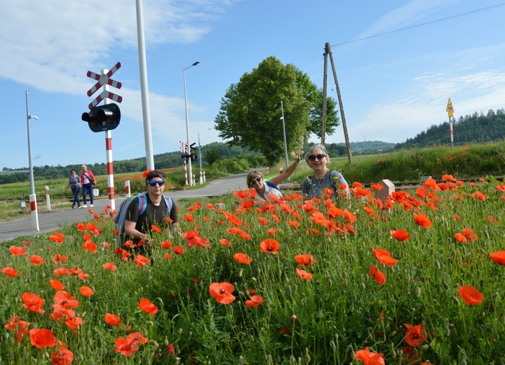
{"label": "green field full of red poppies in the foreground", "polygon": [[109,210],[2,243],[0,363],[504,364],[505,184],[379,188],[180,204],[149,257]]}

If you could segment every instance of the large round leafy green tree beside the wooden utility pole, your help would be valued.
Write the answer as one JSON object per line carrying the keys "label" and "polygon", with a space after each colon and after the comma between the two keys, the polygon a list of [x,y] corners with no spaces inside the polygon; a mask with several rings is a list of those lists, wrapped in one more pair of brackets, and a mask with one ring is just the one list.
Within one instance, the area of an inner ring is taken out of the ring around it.
{"label": "large round leafy green tree beside the wooden utility pole", "polygon": [[[322,91],[307,74],[275,57],[263,60],[228,88],[215,128],[231,145],[249,146],[274,164],[284,156],[281,100],[288,151],[299,150],[311,133],[321,133]],[[339,124],[335,100],[330,100],[325,128],[329,135]]]}

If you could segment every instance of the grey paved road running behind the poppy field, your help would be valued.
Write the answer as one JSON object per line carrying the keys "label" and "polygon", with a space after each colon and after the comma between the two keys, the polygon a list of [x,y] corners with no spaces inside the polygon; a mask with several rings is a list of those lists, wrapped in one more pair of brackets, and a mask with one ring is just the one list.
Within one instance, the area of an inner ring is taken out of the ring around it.
{"label": "grey paved road running behind the poppy field", "polygon": [[[230,194],[236,190],[243,190],[247,187],[245,183],[245,173],[227,176],[210,181],[205,187],[200,189],[180,190],[166,193],[174,201],[182,198],[191,197],[219,197],[220,195]],[[116,209],[124,198],[116,198]],[[109,204],[109,199],[95,199],[93,211],[100,213]],[[89,202],[88,202],[89,204]],[[88,209],[90,209],[88,205]],[[73,223],[82,222],[90,218],[88,209],[72,209],[68,208],[62,211],[46,211],[39,212],[39,229],[40,233],[51,232],[58,230],[60,227],[72,225]],[[28,236],[33,237],[34,231],[32,230],[32,218],[21,218],[18,220],[11,220],[10,222],[0,223],[0,241],[8,241],[16,237]]]}

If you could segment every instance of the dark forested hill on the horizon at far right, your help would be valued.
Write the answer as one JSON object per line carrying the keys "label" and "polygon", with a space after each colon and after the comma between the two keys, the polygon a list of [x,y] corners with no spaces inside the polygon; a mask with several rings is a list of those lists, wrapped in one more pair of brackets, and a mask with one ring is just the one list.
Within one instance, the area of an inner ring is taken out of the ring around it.
{"label": "dark forested hill on the horizon at far right", "polygon": [[[494,112],[489,110],[486,115],[474,112],[471,115],[459,117],[454,121],[454,145],[468,145],[469,143],[483,143],[504,140],[505,138],[505,113],[504,108]],[[432,125],[414,138],[408,138],[403,143],[398,143],[394,149],[429,147],[433,145],[450,145],[450,126],[445,121]]]}

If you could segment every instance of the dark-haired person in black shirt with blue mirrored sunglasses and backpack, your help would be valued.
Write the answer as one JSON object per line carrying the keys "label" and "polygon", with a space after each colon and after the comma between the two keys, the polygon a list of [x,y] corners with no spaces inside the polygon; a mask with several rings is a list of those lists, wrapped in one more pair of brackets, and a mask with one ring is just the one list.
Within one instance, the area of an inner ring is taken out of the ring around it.
{"label": "dark-haired person in black shirt with blue mirrored sunglasses and backpack", "polygon": [[165,190],[163,173],[157,170],[150,171],[146,177],[146,188],[147,205],[145,210],[139,213],[140,199],[133,199],[126,212],[124,230],[126,239],[132,240],[135,246],[138,246],[138,243],[142,241],[142,244],[138,246],[139,251],[149,253],[152,241],[149,234],[152,232],[152,225],[156,225],[162,230],[164,228],[170,229],[172,232],[178,232],[179,228],[175,203],[172,202],[169,210],[166,204],[168,200],[163,197],[163,190]]}

